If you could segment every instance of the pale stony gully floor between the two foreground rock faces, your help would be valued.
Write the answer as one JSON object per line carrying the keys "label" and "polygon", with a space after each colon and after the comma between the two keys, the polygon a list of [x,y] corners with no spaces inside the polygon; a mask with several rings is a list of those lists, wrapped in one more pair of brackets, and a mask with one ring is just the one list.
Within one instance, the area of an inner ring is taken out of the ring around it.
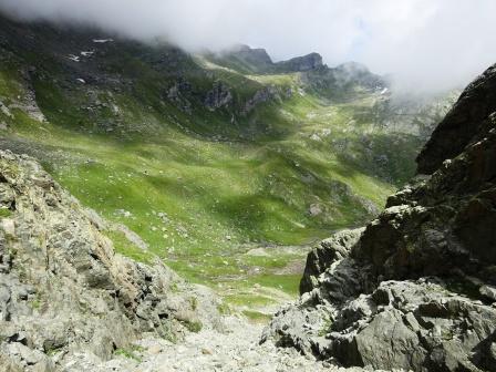
{"label": "pale stony gully floor between the two foreground rock faces", "polygon": [[[66,371],[92,372],[334,372],[362,371],[332,366],[303,356],[294,349],[278,349],[271,342],[258,344],[264,326],[235,317],[226,318],[226,332],[204,330],[190,333],[183,343],[146,339],[140,351],[94,364],[80,355]],[[135,359],[133,359],[135,358]]]}

